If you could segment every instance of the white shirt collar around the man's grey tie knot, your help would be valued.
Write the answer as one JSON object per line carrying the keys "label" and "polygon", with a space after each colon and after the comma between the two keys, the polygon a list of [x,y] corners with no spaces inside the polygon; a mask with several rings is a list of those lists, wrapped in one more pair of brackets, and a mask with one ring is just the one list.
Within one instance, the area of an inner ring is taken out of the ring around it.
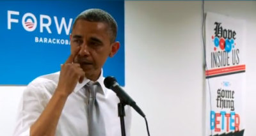
{"label": "white shirt collar around the man's grey tie knot", "polygon": [[[84,80],[82,83],[77,82],[76,87],[74,89],[74,93],[77,93],[77,91],[79,91],[81,88],[83,88],[88,82],[90,82],[90,79],[87,79],[86,77],[84,77]],[[102,93],[105,93],[105,89],[104,89],[104,77],[103,77],[103,70],[101,70],[100,73],[100,77],[99,79],[97,79],[95,82],[99,82],[100,87],[102,88]]]}

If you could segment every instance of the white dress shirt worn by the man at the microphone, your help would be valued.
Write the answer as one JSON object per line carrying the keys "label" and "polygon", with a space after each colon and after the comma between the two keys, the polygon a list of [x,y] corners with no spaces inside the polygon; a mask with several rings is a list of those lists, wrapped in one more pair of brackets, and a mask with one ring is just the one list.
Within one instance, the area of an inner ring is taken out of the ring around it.
{"label": "white dress shirt worn by the man at the microphone", "polygon": [[[18,109],[17,124],[13,135],[29,136],[30,126],[44,111],[52,97],[59,80],[60,72],[43,75],[33,80],[24,90]],[[60,136],[88,136],[87,106],[88,98],[84,85],[90,80],[84,79],[77,83],[74,91],[68,96],[58,121],[56,135]],[[97,93],[97,102],[105,123],[106,136],[120,136],[120,118],[117,104],[120,102],[116,94],[104,86],[102,72],[97,80],[102,90]],[[125,131],[130,135],[131,108],[125,106]],[[103,135],[102,135],[103,136]]]}

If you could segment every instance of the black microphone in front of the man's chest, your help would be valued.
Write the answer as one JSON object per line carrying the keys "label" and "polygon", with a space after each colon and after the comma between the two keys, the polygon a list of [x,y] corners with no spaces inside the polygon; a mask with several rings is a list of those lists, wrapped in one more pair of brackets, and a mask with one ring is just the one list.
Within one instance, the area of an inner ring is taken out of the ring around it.
{"label": "black microphone in front of the man's chest", "polygon": [[132,98],[125,93],[124,89],[119,86],[118,82],[116,81],[115,77],[106,77],[104,79],[104,85],[108,88],[113,90],[116,93],[116,96],[120,99],[121,102],[124,102],[127,105],[130,105],[134,110],[136,110],[142,117],[145,117],[143,111],[136,105],[136,102],[132,100]]}

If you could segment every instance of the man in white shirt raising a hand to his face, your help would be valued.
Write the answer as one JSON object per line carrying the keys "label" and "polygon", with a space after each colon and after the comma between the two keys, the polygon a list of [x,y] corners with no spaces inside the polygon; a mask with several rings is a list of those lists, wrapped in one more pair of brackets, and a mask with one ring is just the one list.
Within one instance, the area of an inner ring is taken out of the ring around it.
{"label": "man in white shirt raising a hand to his face", "polygon": [[[25,89],[14,135],[94,136],[88,123],[88,82],[99,86],[96,100],[103,121],[99,128],[104,127],[97,131],[106,136],[121,135],[119,99],[104,87],[102,77],[103,64],[120,47],[115,42],[116,31],[116,21],[106,11],[91,9],[77,16],[70,35],[70,56],[60,72],[38,77]],[[131,110],[125,112],[129,135]]]}

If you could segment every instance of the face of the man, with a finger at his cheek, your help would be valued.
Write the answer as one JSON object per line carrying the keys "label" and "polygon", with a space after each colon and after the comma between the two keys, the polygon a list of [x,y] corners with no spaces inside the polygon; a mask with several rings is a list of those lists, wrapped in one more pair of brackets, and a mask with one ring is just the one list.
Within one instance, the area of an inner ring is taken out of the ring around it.
{"label": "face of the man, with a finger at his cheek", "polygon": [[111,43],[109,36],[107,24],[77,20],[70,36],[71,54],[80,47],[74,63],[81,65],[86,77],[99,76],[108,56],[117,52],[116,43]]}

